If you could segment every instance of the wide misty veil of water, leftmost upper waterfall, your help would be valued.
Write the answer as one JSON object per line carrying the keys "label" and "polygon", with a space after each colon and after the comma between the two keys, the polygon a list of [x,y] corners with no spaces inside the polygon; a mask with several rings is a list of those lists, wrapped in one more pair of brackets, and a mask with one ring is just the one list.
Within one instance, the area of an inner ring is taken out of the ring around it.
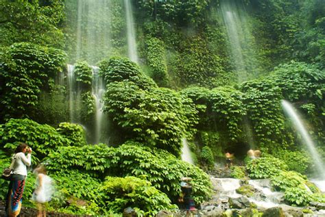
{"label": "wide misty veil of water, leftmost upper waterfall", "polygon": [[[95,64],[110,51],[110,0],[68,0],[74,27],[75,55],[73,60]],[[76,13],[76,16],[75,16]]]}

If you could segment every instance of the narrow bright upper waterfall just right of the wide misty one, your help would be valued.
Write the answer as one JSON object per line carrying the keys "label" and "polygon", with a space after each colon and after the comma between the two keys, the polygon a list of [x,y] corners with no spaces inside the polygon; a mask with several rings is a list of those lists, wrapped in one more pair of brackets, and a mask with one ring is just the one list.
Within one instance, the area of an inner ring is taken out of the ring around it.
{"label": "narrow bright upper waterfall just right of the wide misty one", "polygon": [[136,34],[134,30],[134,21],[132,15],[132,4],[130,0],[124,0],[125,16],[128,36],[128,56],[130,60],[138,63],[138,53],[136,51]]}

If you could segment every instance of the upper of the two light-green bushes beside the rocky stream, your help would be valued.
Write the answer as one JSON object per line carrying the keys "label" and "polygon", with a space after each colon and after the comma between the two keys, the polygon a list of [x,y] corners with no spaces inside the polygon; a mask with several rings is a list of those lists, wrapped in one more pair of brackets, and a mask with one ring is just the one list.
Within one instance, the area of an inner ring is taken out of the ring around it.
{"label": "upper of the two light-green bushes beside the rocky stream", "polygon": [[278,175],[281,170],[287,170],[288,166],[276,157],[261,157],[252,159],[246,165],[248,176],[252,179],[268,179]]}

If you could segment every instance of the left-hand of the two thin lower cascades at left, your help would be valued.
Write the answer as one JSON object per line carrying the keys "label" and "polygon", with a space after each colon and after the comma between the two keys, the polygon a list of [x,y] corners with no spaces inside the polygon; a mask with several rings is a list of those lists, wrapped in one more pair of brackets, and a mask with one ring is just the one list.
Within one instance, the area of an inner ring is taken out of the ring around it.
{"label": "left-hand of the two thin lower cascades at left", "polygon": [[73,123],[75,121],[75,66],[68,64],[67,71],[67,79],[69,86],[69,117],[70,122]]}

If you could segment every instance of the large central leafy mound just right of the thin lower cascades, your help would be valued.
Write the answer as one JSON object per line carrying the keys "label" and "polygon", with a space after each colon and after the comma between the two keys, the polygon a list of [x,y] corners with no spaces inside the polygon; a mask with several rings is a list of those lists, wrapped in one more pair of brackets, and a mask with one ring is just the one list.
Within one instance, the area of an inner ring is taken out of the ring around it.
{"label": "large central leafy mound just right of the thin lower cascades", "polygon": [[124,132],[122,141],[145,142],[176,156],[182,136],[193,132],[197,123],[191,101],[167,88],[147,91],[132,82],[115,82],[108,84],[104,102],[104,111]]}

